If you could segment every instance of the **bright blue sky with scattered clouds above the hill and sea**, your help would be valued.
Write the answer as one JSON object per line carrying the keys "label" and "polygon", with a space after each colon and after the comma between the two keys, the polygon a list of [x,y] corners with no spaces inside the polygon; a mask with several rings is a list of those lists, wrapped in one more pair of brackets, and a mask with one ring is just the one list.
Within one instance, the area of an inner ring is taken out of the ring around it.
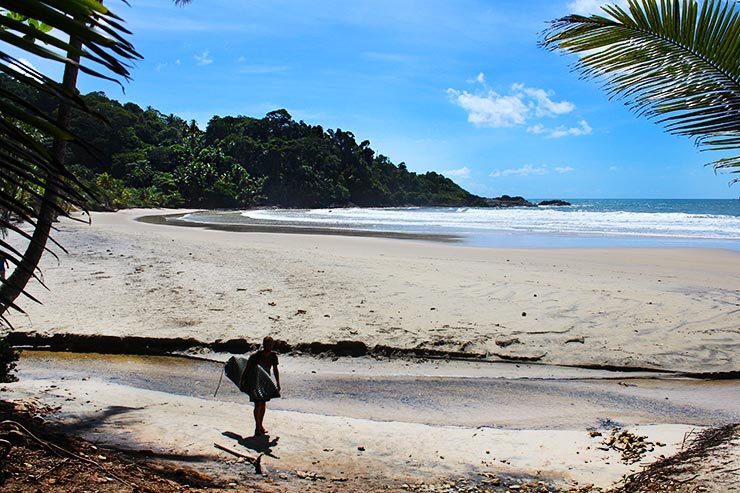
{"label": "bright blue sky with scattered clouds above the hill and sea", "polygon": [[482,196],[740,195],[730,175],[705,166],[720,156],[638,119],[598,81],[582,80],[574,56],[538,46],[549,21],[598,13],[599,0],[129,3],[106,5],[144,59],[125,94],[89,77],[83,92],[203,129],[213,115],[285,108]]}

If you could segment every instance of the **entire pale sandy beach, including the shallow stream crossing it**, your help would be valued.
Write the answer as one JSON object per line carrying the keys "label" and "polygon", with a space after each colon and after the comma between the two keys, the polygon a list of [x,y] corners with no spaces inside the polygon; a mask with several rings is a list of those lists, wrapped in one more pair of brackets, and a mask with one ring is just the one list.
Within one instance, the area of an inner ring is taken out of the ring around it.
{"label": "entire pale sandy beach, including the shallow stream crossing it", "polygon": [[[281,356],[286,392],[266,418],[279,440],[249,437],[251,406],[229,382],[212,396],[228,354],[209,349],[26,351],[6,399],[45,406],[100,446],[291,492],[460,491],[443,486],[486,474],[592,491],[681,450],[687,434],[740,421],[737,379],[686,377],[740,369],[736,251],[474,248],[136,220],[179,212],[62,220],[55,238],[69,253],[45,257],[49,291],[31,289],[43,305],[24,302],[14,330],[318,343],[323,356]],[[338,357],[343,341],[367,354]],[[614,428],[651,446],[625,462],[603,445]],[[269,482],[214,443],[265,453]]]}

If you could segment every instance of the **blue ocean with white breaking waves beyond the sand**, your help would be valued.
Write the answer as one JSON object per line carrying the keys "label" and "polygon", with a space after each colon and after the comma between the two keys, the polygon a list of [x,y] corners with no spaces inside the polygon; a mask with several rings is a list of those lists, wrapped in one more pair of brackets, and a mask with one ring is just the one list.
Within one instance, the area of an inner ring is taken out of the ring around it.
{"label": "blue ocean with white breaking waves beyond the sand", "polygon": [[498,248],[696,247],[740,251],[740,200],[573,199],[565,207],[394,207],[206,211],[204,225],[264,224],[449,235]]}

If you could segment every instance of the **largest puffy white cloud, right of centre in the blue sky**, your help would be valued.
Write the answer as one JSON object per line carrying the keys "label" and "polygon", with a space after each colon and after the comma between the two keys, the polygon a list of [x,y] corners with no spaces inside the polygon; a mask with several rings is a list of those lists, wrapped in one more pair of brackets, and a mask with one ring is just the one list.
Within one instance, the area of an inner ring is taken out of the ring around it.
{"label": "largest puffy white cloud, right of centre in the blue sky", "polygon": [[[513,84],[511,94],[499,94],[488,88],[483,72],[468,82],[480,84],[483,88],[476,92],[450,88],[447,89],[447,95],[454,104],[468,113],[468,121],[476,127],[516,127],[526,124],[532,118],[554,118],[576,108],[570,101],[554,101],[552,91],[527,87],[522,83]],[[556,130],[568,132],[570,129],[562,127]],[[582,127],[576,130],[585,132]],[[535,134],[552,132],[541,123],[530,126],[528,131]]]}

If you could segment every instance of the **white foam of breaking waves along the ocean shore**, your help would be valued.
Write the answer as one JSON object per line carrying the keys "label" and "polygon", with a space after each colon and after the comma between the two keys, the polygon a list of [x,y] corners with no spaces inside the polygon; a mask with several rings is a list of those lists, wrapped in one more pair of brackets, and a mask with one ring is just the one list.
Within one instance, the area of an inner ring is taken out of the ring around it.
{"label": "white foam of breaking waves along the ocean shore", "polygon": [[555,208],[348,208],[242,212],[255,221],[426,233],[526,232],[740,241],[740,217]]}

